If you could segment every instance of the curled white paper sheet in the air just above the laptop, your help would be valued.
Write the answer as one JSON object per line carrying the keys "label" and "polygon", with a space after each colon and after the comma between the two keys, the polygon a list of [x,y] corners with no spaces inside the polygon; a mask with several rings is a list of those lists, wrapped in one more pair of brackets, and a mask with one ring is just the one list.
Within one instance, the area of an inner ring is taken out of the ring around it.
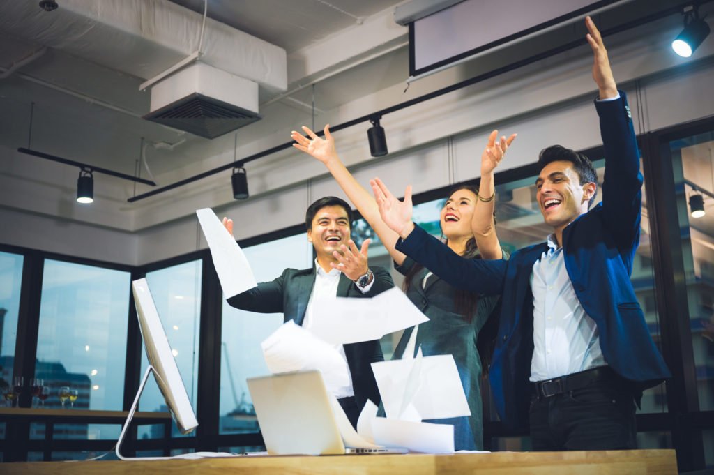
{"label": "curled white paper sheet in the air just above the laptop", "polygon": [[331,394],[350,382],[347,361],[339,351],[292,320],[273,331],[261,347],[273,374],[317,369]]}

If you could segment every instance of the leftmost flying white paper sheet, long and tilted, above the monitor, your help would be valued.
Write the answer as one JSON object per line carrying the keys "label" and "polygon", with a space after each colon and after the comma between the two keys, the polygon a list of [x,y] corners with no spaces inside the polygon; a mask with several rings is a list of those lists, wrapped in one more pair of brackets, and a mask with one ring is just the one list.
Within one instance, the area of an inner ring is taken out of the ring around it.
{"label": "leftmost flying white paper sheet, long and tilted, above the monitor", "polygon": [[201,224],[203,236],[206,237],[211,249],[211,259],[216,267],[218,280],[221,281],[223,295],[232,297],[257,286],[248,259],[238,246],[233,236],[226,231],[213,210],[203,208],[196,210],[198,223]]}

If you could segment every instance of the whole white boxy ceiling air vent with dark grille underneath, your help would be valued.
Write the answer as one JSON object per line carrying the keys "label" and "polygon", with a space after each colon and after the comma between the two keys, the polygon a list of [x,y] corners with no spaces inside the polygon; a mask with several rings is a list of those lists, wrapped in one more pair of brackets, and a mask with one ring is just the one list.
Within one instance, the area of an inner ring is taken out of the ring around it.
{"label": "whole white boxy ceiling air vent with dark grille underneath", "polygon": [[215,139],[261,119],[258,84],[194,63],[151,86],[144,119]]}

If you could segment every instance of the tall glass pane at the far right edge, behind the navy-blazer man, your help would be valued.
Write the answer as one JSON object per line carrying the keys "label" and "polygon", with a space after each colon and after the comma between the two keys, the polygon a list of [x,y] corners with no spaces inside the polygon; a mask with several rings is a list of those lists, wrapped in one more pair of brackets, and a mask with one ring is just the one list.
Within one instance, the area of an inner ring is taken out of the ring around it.
{"label": "tall glass pane at the far right edge, behind the navy-blazer man", "polygon": [[[670,143],[699,408],[714,409],[714,132]],[[700,206],[698,206],[700,205]],[[701,216],[698,211],[698,208]]]}

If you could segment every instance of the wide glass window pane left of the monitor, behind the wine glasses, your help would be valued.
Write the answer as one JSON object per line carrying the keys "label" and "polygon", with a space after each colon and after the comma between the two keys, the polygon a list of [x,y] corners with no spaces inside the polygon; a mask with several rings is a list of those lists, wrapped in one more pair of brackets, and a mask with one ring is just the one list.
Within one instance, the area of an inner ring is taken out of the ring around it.
{"label": "wide glass window pane left of the monitor, behind the wine glasses", "polygon": [[[122,409],[130,279],[125,271],[45,261],[35,369],[49,387],[45,407],[61,407],[59,390],[68,386],[78,391],[68,409]],[[87,439],[94,430],[62,424],[55,437]]]}

